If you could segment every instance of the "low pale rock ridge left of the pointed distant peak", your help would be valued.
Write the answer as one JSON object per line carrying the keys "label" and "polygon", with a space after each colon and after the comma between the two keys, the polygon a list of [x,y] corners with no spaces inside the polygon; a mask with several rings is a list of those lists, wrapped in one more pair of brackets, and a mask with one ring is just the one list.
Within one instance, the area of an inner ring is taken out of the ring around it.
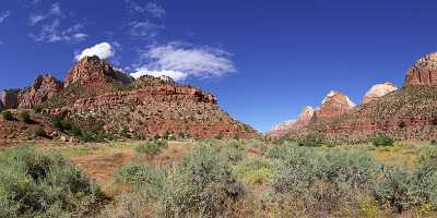
{"label": "low pale rock ridge left of the pointed distant peak", "polygon": [[282,137],[291,131],[299,130],[307,126],[314,117],[315,110],[310,106],[306,106],[297,119],[288,120],[275,125],[269,133],[272,137]]}

